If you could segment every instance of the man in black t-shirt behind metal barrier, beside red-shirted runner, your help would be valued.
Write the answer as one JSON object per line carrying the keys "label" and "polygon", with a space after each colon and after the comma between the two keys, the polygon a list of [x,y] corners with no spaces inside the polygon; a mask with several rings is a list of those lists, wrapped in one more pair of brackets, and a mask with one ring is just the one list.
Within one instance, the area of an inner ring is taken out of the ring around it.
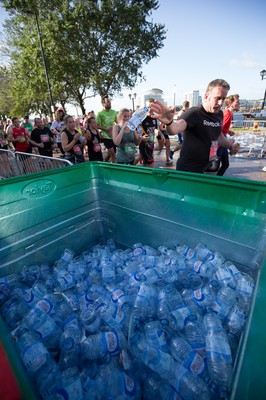
{"label": "man in black t-shirt behind metal barrier, beside red-shirted runner", "polygon": [[53,157],[55,147],[53,133],[44,126],[41,118],[35,118],[34,123],[36,128],[31,132],[31,145],[38,147],[41,156]]}

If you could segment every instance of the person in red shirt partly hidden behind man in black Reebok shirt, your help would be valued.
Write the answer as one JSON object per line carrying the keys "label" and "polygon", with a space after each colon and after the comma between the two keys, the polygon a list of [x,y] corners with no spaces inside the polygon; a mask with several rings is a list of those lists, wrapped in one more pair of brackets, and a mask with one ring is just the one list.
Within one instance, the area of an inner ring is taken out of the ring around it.
{"label": "person in red shirt partly hidden behind man in black Reebok shirt", "polygon": [[[234,132],[230,130],[233,113],[239,109],[239,95],[232,94],[225,99],[226,109],[224,110],[223,116],[223,128],[222,133],[224,136],[234,136]],[[220,168],[218,169],[217,175],[224,175],[225,171],[229,168],[229,155],[228,150],[224,147],[219,146],[217,150],[217,156],[220,159]]]}

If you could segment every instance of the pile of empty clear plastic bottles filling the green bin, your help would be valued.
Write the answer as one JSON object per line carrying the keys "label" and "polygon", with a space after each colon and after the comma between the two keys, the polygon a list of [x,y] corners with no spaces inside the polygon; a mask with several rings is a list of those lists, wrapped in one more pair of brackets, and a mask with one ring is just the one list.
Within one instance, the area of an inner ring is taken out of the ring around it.
{"label": "pile of empty clear plastic bottles filling the green bin", "polygon": [[0,279],[0,309],[43,399],[228,396],[254,289],[198,244],[113,240]]}

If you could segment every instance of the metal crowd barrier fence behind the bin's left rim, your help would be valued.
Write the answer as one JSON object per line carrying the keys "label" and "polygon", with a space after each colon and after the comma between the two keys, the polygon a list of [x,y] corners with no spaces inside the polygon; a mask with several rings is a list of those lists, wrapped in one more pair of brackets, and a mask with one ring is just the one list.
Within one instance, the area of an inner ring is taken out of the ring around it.
{"label": "metal crowd barrier fence behind the bin's left rim", "polygon": [[69,165],[72,165],[70,161],[61,158],[0,149],[0,179],[49,171]]}

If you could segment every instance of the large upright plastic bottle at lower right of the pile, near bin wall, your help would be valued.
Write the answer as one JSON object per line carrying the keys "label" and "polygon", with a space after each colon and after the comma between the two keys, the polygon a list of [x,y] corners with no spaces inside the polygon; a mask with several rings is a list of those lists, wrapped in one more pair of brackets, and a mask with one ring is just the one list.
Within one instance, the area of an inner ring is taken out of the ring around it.
{"label": "large upright plastic bottle at lower right of the pile, near bin wall", "polygon": [[213,313],[204,315],[206,356],[211,380],[219,388],[221,397],[228,394],[232,379],[232,355],[227,334],[221,320]]}

